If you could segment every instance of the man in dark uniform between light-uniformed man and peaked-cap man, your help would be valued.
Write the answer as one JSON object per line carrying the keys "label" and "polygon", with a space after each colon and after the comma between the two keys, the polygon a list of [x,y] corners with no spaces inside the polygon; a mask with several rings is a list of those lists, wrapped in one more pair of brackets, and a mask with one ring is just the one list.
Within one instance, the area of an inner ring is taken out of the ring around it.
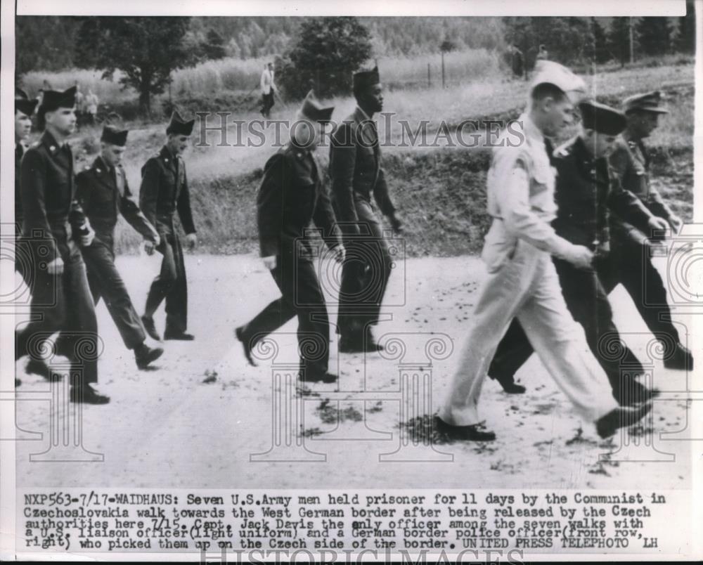
{"label": "man in dark uniform between light-uniformed man and peaked-cap man", "polygon": [[[562,238],[591,249],[598,264],[610,248],[610,210],[647,231],[662,228],[663,223],[652,216],[635,195],[620,188],[617,179],[611,182],[606,156],[625,127],[625,116],[597,102],[583,102],[579,108],[583,119],[581,134],[557,149],[552,160],[557,170],[555,200],[558,207],[552,226]],[[651,396],[652,392],[634,378],[643,372],[642,365],[619,341],[607,292],[600,283],[596,266],[584,270],[561,259],[553,261],[567,307],[574,320],[583,326],[588,346],[605,370],[614,398],[621,404],[631,404]],[[605,335],[624,347],[622,356],[604,351],[609,349],[600,343]],[[489,375],[501,382],[508,392],[524,392],[524,387],[515,384],[513,379],[531,353],[532,347],[520,323],[513,320],[498,346]],[[629,375],[621,370],[625,367]]]}

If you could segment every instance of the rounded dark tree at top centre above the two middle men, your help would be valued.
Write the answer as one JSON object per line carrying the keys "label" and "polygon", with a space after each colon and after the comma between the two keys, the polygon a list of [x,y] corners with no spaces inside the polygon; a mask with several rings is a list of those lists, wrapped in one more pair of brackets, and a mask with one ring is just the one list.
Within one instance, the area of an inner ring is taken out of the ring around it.
{"label": "rounded dark tree at top centre above the two middle men", "polygon": [[299,98],[310,88],[318,96],[352,90],[352,73],[371,56],[370,34],[354,17],[311,18],[276,70],[288,96]]}

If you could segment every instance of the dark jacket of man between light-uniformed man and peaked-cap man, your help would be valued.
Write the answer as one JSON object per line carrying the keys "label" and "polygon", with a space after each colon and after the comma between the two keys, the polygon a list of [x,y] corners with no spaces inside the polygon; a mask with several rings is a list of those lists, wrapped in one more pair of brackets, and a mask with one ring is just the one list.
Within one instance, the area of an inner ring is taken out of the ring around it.
{"label": "dark jacket of man between light-uniformed man and peaked-cap man", "polygon": [[611,182],[607,161],[594,160],[581,137],[557,148],[552,163],[557,170],[558,208],[552,226],[562,238],[590,249],[610,241],[610,210],[647,229],[650,212],[638,197],[621,188],[617,178]]}

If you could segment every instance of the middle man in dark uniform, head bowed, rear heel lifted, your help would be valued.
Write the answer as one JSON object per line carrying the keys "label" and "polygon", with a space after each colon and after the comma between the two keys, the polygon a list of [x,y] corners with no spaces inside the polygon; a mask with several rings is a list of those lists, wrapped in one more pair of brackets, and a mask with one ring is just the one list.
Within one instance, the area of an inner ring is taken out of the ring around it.
{"label": "middle man in dark uniform, head bowed, rear heel lifted", "polygon": [[325,124],[334,108],[321,108],[309,93],[298,112],[288,145],[264,167],[257,194],[257,223],[264,265],[269,268],[281,297],[249,323],[236,328],[247,360],[259,340],[288,320],[298,318],[299,379],[334,382],[328,372],[330,327],[327,306],[316,274],[316,261],[304,230],[314,221],[335,260],[344,259],[344,246],[335,215],[314,157]]}

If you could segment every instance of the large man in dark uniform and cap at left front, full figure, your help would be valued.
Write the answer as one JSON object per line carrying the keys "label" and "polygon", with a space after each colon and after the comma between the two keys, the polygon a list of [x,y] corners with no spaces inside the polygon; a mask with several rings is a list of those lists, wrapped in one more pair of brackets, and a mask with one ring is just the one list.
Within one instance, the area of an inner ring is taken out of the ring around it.
{"label": "large man in dark uniform and cap at left front, full figure", "polygon": [[[91,384],[98,382],[98,325],[76,240],[93,241],[93,230],[75,200],[73,155],[66,138],[75,131],[75,87],[45,91],[39,105],[41,139],[22,157],[22,235],[32,249],[32,321],[17,335],[15,356],[60,332],[56,352],[72,361],[70,400],[110,401]],[[48,376],[46,366],[30,361],[28,372]]]}

